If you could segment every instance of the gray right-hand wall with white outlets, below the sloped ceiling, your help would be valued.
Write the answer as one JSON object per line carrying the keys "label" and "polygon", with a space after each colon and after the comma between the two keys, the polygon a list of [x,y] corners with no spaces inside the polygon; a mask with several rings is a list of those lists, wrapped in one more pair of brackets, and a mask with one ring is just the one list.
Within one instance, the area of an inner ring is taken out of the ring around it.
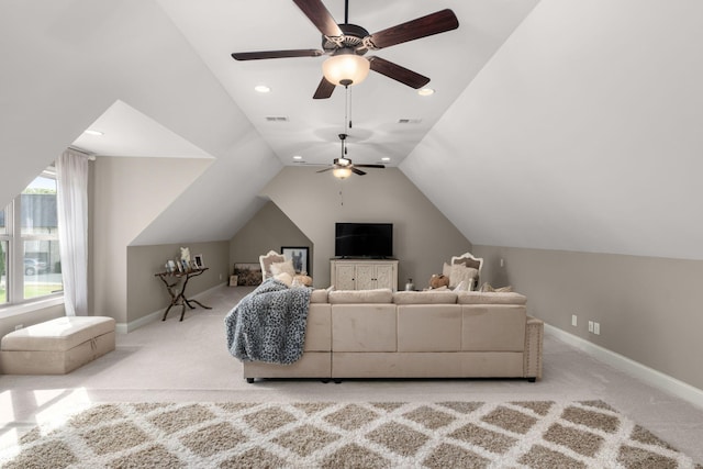
{"label": "gray right-hand wall with white outlets, below the sloped ceiling", "polygon": [[493,246],[475,254],[484,258],[482,281],[526,294],[529,314],[703,389],[703,261]]}

